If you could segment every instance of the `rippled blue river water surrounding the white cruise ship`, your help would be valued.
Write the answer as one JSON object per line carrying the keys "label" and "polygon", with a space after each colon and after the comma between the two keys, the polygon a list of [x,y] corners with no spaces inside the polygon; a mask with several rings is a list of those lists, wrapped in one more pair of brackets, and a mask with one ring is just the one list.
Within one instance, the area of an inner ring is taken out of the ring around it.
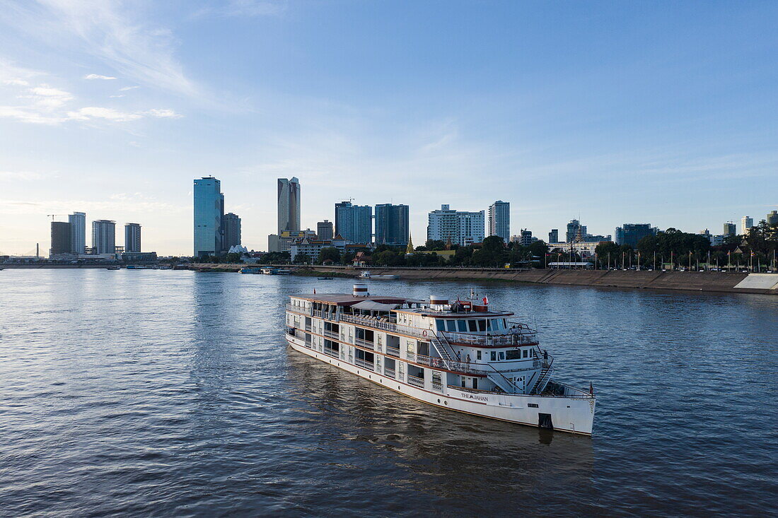
{"label": "rippled blue river water surrounding the white cruise ship", "polygon": [[[588,438],[431,407],[288,348],[289,293],[349,292],[348,279],[2,276],[0,514],[776,508],[778,297],[476,285],[537,325],[561,380],[594,384]],[[470,288],[370,284],[419,298]]]}

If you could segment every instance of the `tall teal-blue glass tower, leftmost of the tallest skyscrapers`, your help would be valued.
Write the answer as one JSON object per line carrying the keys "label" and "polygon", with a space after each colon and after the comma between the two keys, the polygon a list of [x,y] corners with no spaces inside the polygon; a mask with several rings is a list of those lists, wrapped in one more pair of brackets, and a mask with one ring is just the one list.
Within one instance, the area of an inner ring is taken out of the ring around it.
{"label": "tall teal-blue glass tower, leftmost of the tallest skyscrapers", "polygon": [[219,254],[223,250],[222,183],[214,177],[195,180],[195,257]]}

